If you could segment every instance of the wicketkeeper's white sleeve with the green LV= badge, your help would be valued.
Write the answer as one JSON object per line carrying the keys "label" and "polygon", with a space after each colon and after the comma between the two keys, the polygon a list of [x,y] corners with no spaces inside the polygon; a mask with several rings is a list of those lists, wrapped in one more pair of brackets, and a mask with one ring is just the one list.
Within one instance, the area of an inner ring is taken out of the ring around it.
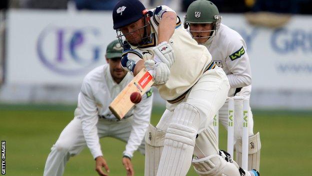
{"label": "wicketkeeper's white sleeve with the green LV= badge", "polygon": [[245,87],[251,84],[250,63],[242,38],[230,41],[225,63],[230,71],[227,78],[231,88]]}

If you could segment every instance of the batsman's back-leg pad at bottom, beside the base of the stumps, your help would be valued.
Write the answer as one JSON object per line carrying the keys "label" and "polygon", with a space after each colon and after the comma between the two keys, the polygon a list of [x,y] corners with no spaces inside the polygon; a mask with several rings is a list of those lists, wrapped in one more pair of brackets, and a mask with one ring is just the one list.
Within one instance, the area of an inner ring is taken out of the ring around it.
{"label": "batsman's back-leg pad at bottom, beside the base of the stumps", "polygon": [[238,168],[218,154],[200,159],[193,158],[192,164],[200,176],[240,176]]}

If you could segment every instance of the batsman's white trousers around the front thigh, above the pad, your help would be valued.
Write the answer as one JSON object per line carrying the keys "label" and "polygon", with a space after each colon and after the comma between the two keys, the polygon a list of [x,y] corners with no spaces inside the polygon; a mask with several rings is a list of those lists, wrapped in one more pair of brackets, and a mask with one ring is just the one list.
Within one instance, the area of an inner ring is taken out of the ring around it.
{"label": "batsman's white trousers around the front thigh, above the pad", "polygon": [[215,113],[223,106],[227,98],[228,90],[228,79],[221,68],[216,66],[214,69],[204,72],[184,99],[174,104],[166,103],[167,109],[156,128],[166,131],[172,121],[175,107],[180,103],[188,103],[199,112],[200,125],[197,127],[197,133],[202,132],[210,123],[212,124]]}

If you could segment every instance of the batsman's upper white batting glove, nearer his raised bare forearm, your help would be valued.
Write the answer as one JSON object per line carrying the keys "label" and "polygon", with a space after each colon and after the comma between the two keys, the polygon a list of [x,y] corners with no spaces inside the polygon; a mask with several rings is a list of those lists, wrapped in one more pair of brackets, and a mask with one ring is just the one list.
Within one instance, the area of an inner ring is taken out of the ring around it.
{"label": "batsman's upper white batting glove, nearer his raised bare forearm", "polygon": [[153,49],[155,56],[154,61],[165,63],[168,68],[171,68],[174,63],[174,52],[168,42],[161,42]]}

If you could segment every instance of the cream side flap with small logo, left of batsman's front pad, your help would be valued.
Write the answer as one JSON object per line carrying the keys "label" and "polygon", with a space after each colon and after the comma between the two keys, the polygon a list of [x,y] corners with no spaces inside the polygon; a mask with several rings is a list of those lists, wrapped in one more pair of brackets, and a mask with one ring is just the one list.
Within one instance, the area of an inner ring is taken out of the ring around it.
{"label": "cream side flap with small logo, left of batsman's front pad", "polygon": [[145,135],[145,176],[155,176],[163,149],[165,131],[149,124]]}

